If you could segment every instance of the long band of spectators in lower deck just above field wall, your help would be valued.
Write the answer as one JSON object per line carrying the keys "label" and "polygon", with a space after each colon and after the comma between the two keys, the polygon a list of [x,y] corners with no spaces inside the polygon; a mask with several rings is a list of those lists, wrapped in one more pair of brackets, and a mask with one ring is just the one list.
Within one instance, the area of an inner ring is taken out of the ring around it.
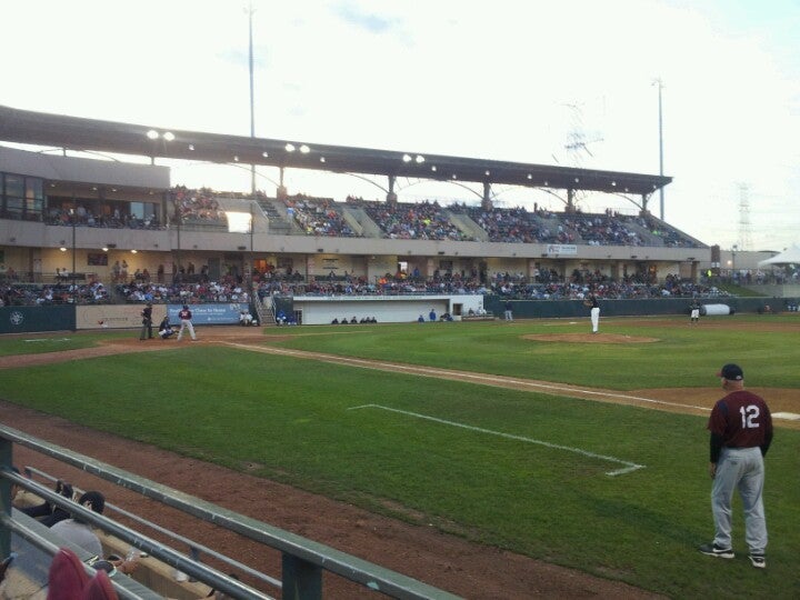
{"label": "long band of spectators in lower deck just above field wall", "polygon": [[[523,273],[498,272],[481,278],[478,272],[434,271],[431,277],[422,277],[418,269],[411,273],[398,271],[382,277],[368,279],[347,271],[342,276],[313,277],[301,276],[291,269],[270,269],[256,273],[252,278],[254,293],[263,299],[270,296],[394,296],[394,294],[499,294],[502,297],[536,300],[582,299],[591,290],[599,298],[693,298],[726,296],[717,284],[732,282],[787,283],[800,277],[794,272],[787,276],[781,272],[734,271],[728,276],[701,276],[694,283],[668,274],[662,282],[642,273],[633,273],[619,280],[599,271],[574,270],[568,277],[561,277],[556,270],[534,270],[531,277]],[[129,281],[116,283],[109,290],[102,282],[76,283],[64,280],[51,284],[6,282],[0,284],[0,306],[53,306],[53,304],[101,304],[114,302],[130,303],[206,303],[239,302],[249,303],[251,294],[248,284],[240,277],[226,276],[220,281],[210,281],[199,277],[191,281],[172,282],[151,281],[149,278],[133,277]]]}

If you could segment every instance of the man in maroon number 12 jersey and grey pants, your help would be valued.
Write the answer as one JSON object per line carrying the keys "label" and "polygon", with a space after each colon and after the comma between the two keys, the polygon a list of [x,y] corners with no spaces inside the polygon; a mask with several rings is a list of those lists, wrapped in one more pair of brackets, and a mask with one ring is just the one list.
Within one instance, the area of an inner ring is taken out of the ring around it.
{"label": "man in maroon number 12 jersey and grey pants", "polygon": [[703,554],[733,558],[731,501],[738,489],[744,508],[744,541],[753,567],[767,567],[767,520],[763,508],[763,457],[772,442],[772,416],[763,398],[744,390],[744,373],[738,364],[726,364],[718,373],[728,396],[711,410],[713,479],[711,511],[714,520],[712,543],[700,547]]}

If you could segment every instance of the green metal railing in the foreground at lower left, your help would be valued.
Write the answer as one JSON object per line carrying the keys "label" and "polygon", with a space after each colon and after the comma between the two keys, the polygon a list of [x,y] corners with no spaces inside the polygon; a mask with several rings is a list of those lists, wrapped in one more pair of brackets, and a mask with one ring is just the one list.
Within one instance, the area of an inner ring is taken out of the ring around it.
{"label": "green metal railing in the foreground at lower left", "polygon": [[142,536],[136,530],[92,512],[57,494],[54,491],[47,490],[43,486],[39,486],[14,473],[12,470],[12,448],[14,443],[54,458],[66,464],[110,481],[123,489],[138,492],[146,498],[150,498],[194,518],[211,522],[280,551],[282,554],[282,598],[323,598],[323,571],[360,583],[370,590],[391,598],[419,600],[446,600],[457,598],[449,592],[439,590],[390,569],[236,513],[217,504],[212,504],[211,502],[6,426],[0,426],[0,504],[2,506],[2,514],[0,514],[0,517],[2,517],[2,527],[0,527],[0,553],[2,553],[2,556],[8,556],[10,551],[10,532],[12,526],[16,530],[19,530],[18,526],[20,521],[14,521],[10,510],[11,484],[16,483],[24,489],[34,490],[36,493],[40,494],[47,501],[67,508],[70,512],[78,514],[82,520],[148,552],[150,556],[187,573],[198,581],[216,588],[218,591],[229,593],[237,599],[260,600],[268,598],[266,594],[227,577],[209,566],[191,560],[182,553]]}

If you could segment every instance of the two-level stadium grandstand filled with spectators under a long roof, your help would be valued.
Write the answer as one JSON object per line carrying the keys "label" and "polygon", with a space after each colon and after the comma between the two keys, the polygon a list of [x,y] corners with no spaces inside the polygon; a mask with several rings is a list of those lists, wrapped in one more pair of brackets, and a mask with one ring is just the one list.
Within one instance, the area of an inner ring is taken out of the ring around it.
{"label": "two-level stadium grandstand filled with spectators under a long roof", "polygon": [[[691,296],[698,267],[711,258],[707,244],[648,209],[671,181],[662,176],[167,131],[8,107],[0,142],[7,304],[230,301],[242,291],[246,301],[580,298],[590,288],[609,298]],[[188,189],[157,159],[272,167],[280,184],[271,193],[254,178],[251,193]],[[380,178],[387,193],[310,197],[283,184],[290,169]],[[394,191],[398,178],[471,183],[483,194],[476,206],[407,202]],[[544,190],[563,210],[496,207],[498,186]],[[583,212],[576,198],[586,192],[622,196],[634,210]],[[391,311],[381,317],[392,320]]]}

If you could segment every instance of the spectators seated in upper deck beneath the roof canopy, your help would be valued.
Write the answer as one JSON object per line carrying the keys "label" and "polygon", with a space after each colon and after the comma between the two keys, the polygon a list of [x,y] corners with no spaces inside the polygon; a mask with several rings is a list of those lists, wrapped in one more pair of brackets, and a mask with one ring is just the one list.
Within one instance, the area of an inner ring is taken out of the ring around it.
{"label": "spectators seated in upper deck beneath the roof canopy", "polygon": [[[220,210],[217,192],[177,186],[170,190],[167,212],[174,213],[186,224],[223,226],[227,217]],[[228,193],[233,197],[237,194]],[[342,216],[342,209],[330,198],[311,198],[299,193],[283,200],[288,217],[294,220],[308,236],[352,238],[360,237]],[[383,236],[408,240],[474,241],[450,220],[450,212],[469,216],[489,241],[502,243],[577,243],[589,246],[664,246],[668,248],[696,248],[700,244],[671,228],[669,224],[643,213],[624,216],[612,210],[603,213],[551,212],[534,207],[533,211],[519,207],[513,209],[468,207],[453,203],[442,208],[438,201],[383,202],[363,200],[349,196],[343,203],[359,207],[374,221]],[[166,223],[156,214],[146,219],[126,213],[116,207],[113,211],[93,213],[78,204],[74,214],[69,209],[51,207],[47,213],[50,224],[89,227],[159,229]],[[644,234],[643,234],[644,233]]]}

